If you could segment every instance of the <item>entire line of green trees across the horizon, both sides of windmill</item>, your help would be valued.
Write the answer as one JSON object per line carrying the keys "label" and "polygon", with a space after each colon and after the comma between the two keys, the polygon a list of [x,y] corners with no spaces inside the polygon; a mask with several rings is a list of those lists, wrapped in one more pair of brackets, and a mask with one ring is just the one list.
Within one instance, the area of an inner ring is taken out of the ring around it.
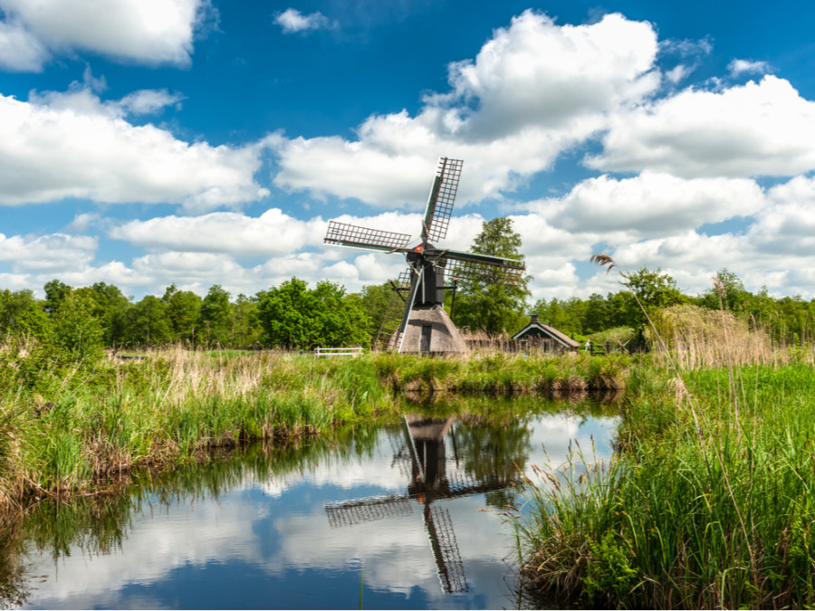
{"label": "entire line of green trees across the horizon, both sides of windmill", "polygon": [[[508,218],[485,221],[471,246],[474,253],[523,261],[521,236]],[[813,338],[815,300],[800,296],[772,298],[766,288],[744,289],[728,270],[716,274],[718,290],[686,295],[666,272],[642,268],[622,276],[621,288],[588,299],[531,302],[529,282],[516,286],[465,280],[447,291],[446,309],[459,328],[490,336],[513,335],[530,313],[542,322],[584,339],[608,329],[629,329],[642,341],[646,313],[689,303],[732,311],[770,333],[780,344],[803,344]],[[296,278],[254,295],[233,296],[218,284],[204,297],[173,284],[161,297],[139,301],[118,287],[96,282],[75,288],[47,282],[45,297],[34,291],[0,290],[0,340],[36,338],[45,345],[83,357],[103,348],[141,348],[182,343],[191,348],[283,348],[368,346],[393,296],[390,282],[349,293],[341,285],[318,282],[313,288]],[[605,341],[605,340],[603,340]]]}

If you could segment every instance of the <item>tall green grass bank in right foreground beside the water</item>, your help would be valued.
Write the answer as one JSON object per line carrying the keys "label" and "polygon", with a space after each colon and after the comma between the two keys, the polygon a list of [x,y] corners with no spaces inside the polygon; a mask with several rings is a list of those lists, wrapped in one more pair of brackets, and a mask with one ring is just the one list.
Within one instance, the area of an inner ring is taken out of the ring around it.
{"label": "tall green grass bank in right foreground beside the water", "polygon": [[815,605],[815,369],[682,377],[635,371],[618,456],[583,448],[532,482],[528,583],[585,606]]}

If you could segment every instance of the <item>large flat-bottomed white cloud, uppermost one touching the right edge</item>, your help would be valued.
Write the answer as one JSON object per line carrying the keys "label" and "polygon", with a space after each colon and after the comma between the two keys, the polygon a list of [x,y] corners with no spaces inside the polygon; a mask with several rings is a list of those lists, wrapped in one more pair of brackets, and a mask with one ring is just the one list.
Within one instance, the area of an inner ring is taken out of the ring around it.
{"label": "large flat-bottomed white cloud, uppermost one touching the right edge", "polygon": [[815,169],[815,103],[768,75],[724,91],[687,89],[611,120],[603,171],[679,177],[795,176]]}

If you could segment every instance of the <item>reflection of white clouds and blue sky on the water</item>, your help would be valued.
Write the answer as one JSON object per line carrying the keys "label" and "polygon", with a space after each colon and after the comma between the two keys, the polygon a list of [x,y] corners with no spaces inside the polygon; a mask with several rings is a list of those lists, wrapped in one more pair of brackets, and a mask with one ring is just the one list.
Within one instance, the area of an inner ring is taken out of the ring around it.
{"label": "reflection of white clouds and blue sky on the water", "polygon": [[[565,459],[571,439],[589,449],[590,435],[598,440],[599,455],[609,456],[609,435],[616,425],[616,418],[540,417],[529,425],[532,449],[527,470],[532,463],[546,461],[544,446],[551,463],[558,464]],[[408,478],[393,460],[391,441],[382,431],[370,455],[350,460],[329,455],[303,473],[274,475],[262,481],[247,474],[217,499],[149,504],[132,516],[121,549],[109,554],[89,556],[73,545],[69,555],[54,561],[32,546],[30,572],[46,578],[36,584],[29,605],[189,606],[183,585],[177,587],[173,600],[151,593],[166,589],[168,580],[189,569],[206,575],[213,572],[217,579],[224,579],[226,589],[237,587],[226,576],[229,571],[224,570],[222,576],[215,571],[230,566],[251,569],[253,575],[268,580],[254,587],[272,587],[277,581],[282,585],[295,575],[339,574],[340,583],[357,584],[359,590],[361,572],[367,590],[406,598],[420,592],[428,606],[472,606],[472,597],[484,601],[477,606],[512,605],[505,599],[503,559],[510,555],[513,541],[499,516],[480,511],[485,507],[484,494],[434,501],[452,517],[470,587],[465,598],[443,594],[424,506],[416,499],[408,501],[411,511],[402,515],[331,527],[324,508],[327,502],[407,493]],[[449,452],[447,459],[452,460]],[[141,588],[139,597],[129,596],[134,587]],[[293,599],[281,599],[280,604],[297,606],[296,594]],[[313,602],[303,603],[309,604]]]}

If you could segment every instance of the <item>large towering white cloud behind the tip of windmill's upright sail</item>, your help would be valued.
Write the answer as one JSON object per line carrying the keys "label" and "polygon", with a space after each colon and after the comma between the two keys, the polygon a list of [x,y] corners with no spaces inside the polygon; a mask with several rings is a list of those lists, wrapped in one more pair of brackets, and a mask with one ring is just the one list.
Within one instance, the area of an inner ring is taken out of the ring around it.
{"label": "large towering white cloud behind the tip of windmill's upright sail", "polygon": [[606,15],[559,26],[527,11],[495,31],[475,60],[449,66],[450,89],[428,95],[417,116],[372,115],[357,139],[274,140],[274,183],[316,195],[420,207],[436,158],[466,160],[459,201],[500,196],[551,167],[603,129],[609,114],[656,91],[651,24]]}

